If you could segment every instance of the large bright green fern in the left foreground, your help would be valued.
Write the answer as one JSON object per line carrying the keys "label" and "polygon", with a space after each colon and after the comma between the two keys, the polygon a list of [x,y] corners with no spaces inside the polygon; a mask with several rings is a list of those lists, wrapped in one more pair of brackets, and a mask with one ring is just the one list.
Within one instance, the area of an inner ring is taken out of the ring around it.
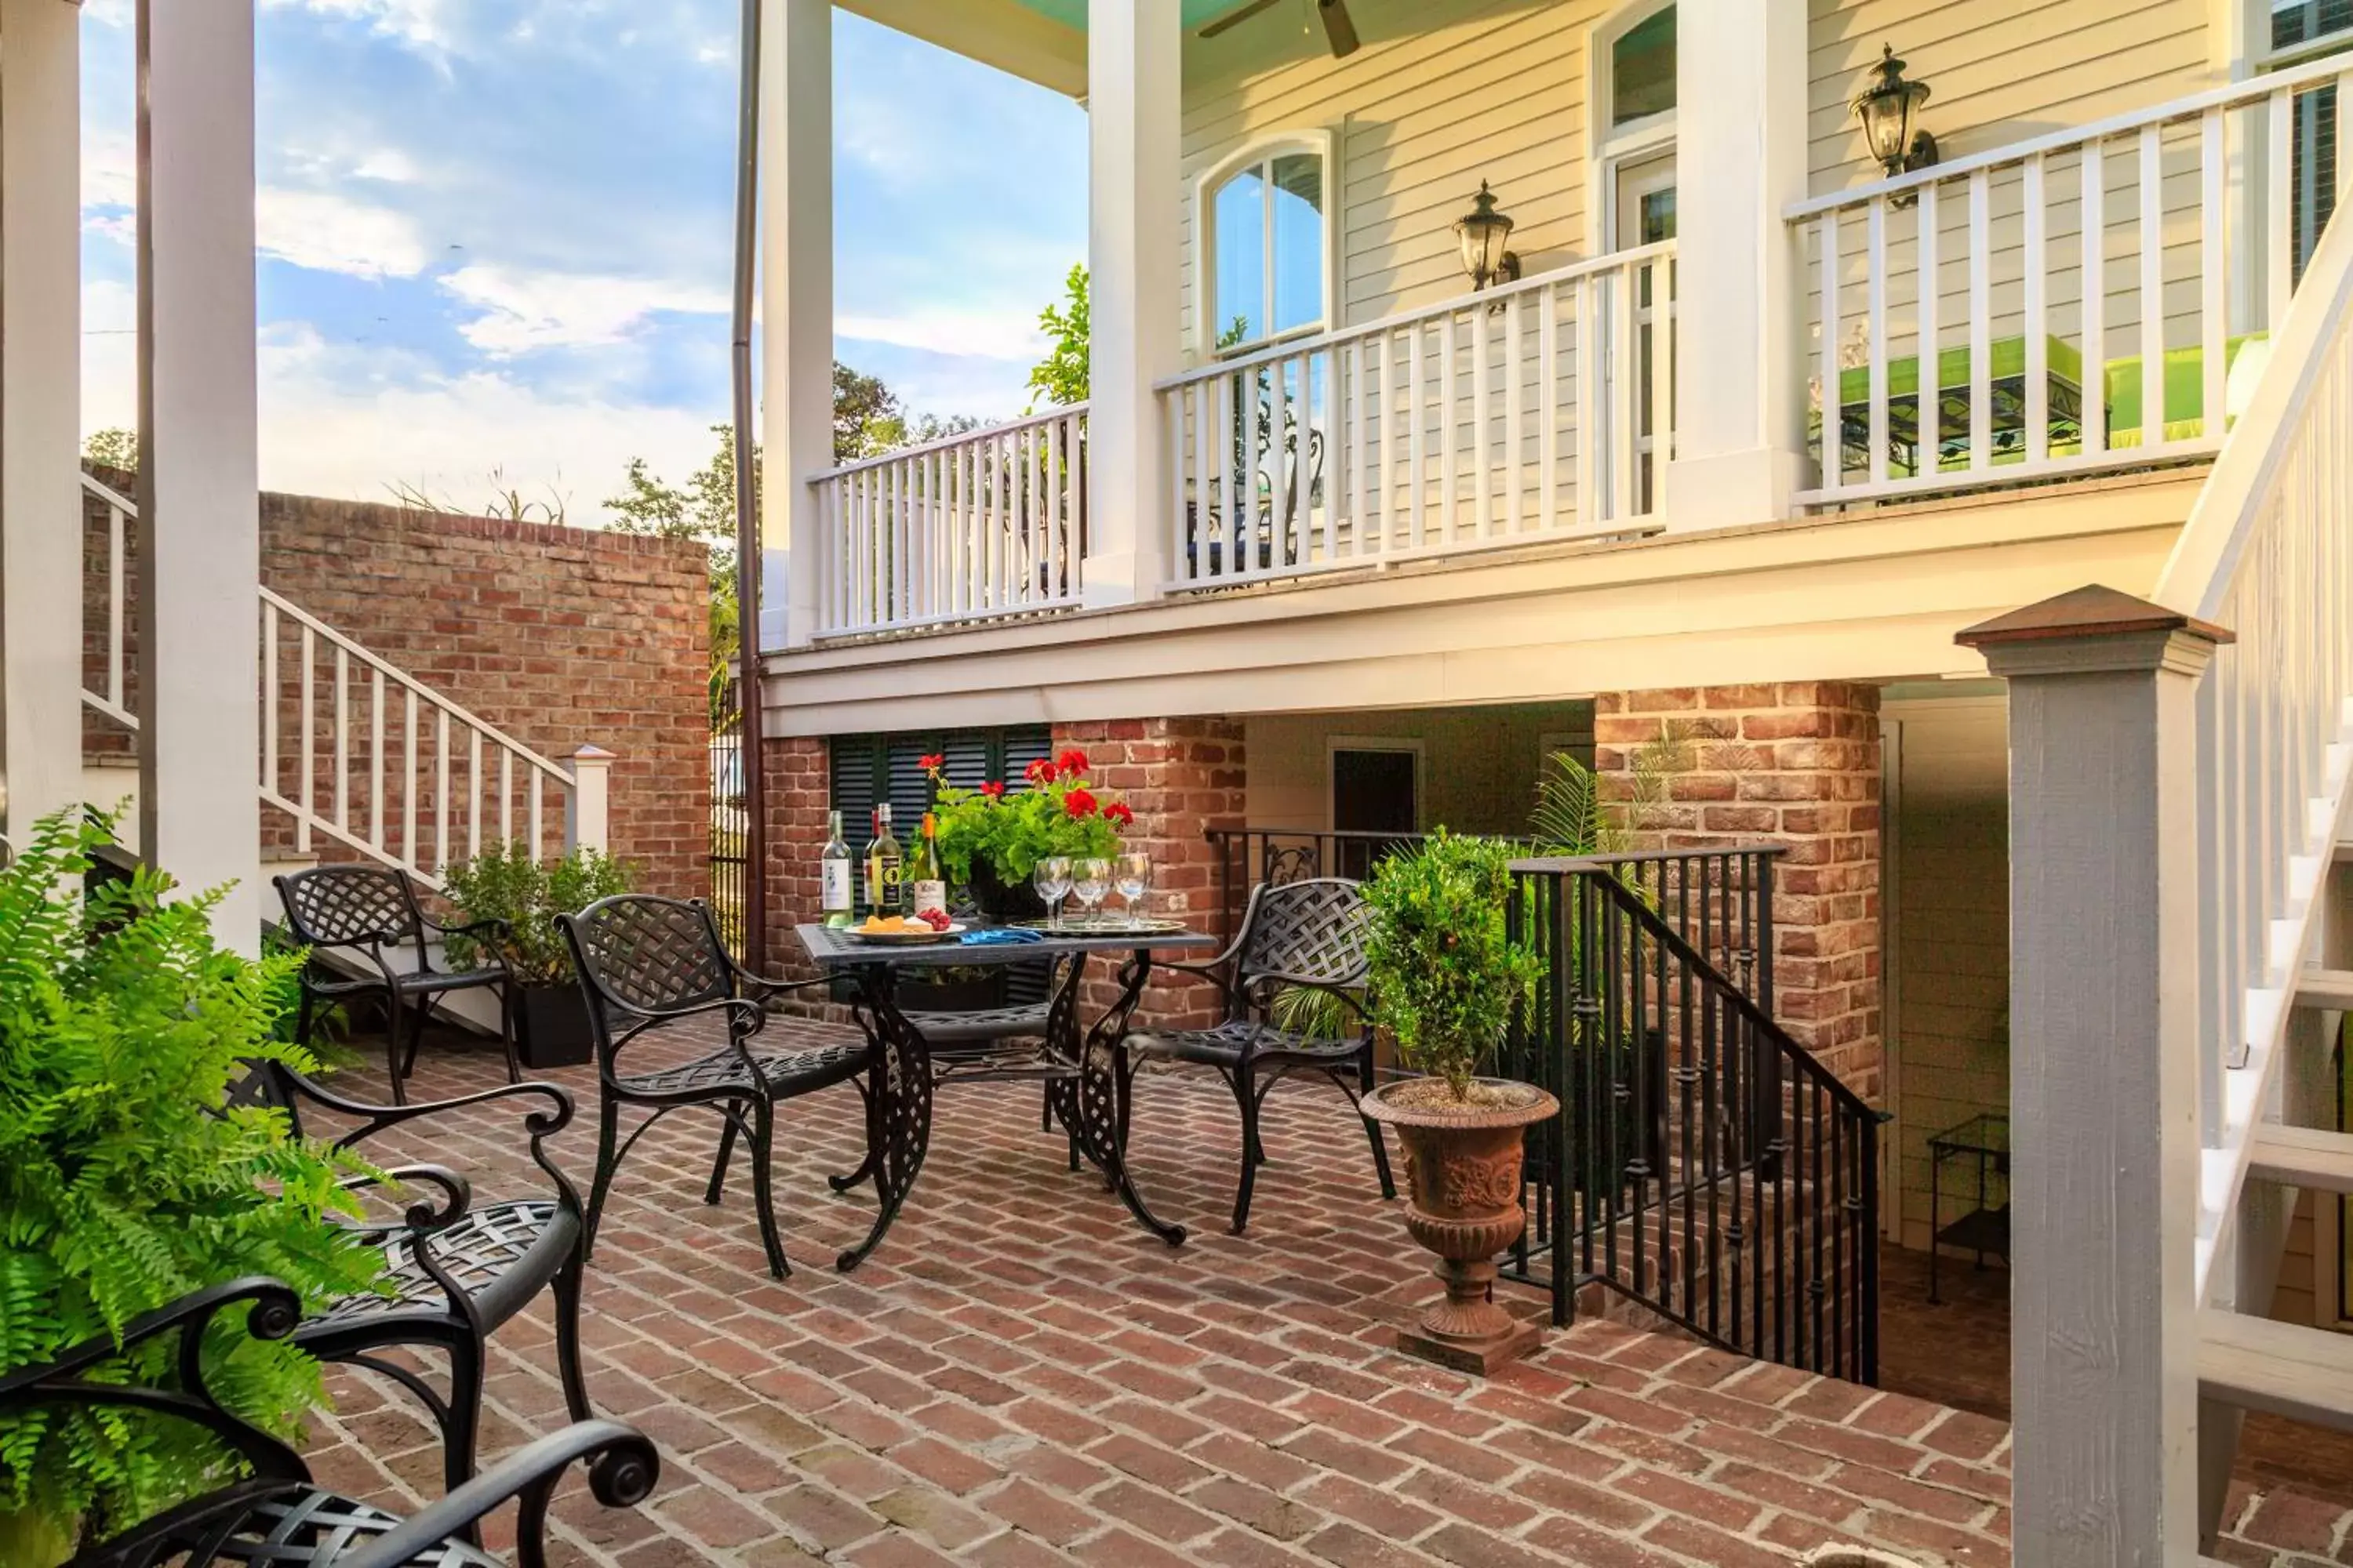
{"label": "large bright green fern in the left foreground", "polygon": [[[212,938],[219,893],[167,903],[139,870],[80,896],[104,816],[42,820],[0,872],[0,1373],[120,1335],[141,1312],[247,1274],[306,1305],[374,1288],[381,1253],[332,1215],[358,1215],[348,1157],[296,1138],[285,1112],[231,1107],[252,1060],[315,1063],[275,1039],[299,954],[259,961]],[[247,1338],[221,1314],[205,1340],[212,1389],[294,1436],[325,1403],[318,1363]],[[106,1378],[169,1387],[169,1338]],[[47,1568],[240,1474],[188,1422],[134,1410],[0,1418],[0,1561]]]}

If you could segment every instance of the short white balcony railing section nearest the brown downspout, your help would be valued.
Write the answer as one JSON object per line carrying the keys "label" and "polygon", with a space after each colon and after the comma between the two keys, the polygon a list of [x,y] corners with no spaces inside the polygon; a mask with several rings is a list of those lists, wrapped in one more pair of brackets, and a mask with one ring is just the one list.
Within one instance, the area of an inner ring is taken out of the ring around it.
{"label": "short white balcony railing section nearest the brown downspout", "polygon": [[816,635],[1066,609],[1087,555],[1087,404],[809,477]]}

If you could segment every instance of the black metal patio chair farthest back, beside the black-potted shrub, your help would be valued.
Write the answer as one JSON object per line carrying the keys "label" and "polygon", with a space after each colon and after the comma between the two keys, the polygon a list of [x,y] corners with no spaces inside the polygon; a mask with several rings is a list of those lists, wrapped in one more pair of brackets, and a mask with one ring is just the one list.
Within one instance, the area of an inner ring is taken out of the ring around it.
{"label": "black metal patio chair farthest back, beside the black-potted shrub", "polygon": [[[294,1039],[306,1046],[311,1044],[311,1023],[322,1001],[334,1004],[381,992],[388,1011],[384,1063],[393,1077],[393,1105],[405,1105],[407,1088],[402,1079],[416,1070],[416,1046],[424,1041],[426,1013],[449,992],[489,987],[499,994],[499,1044],[506,1046],[506,1081],[522,1081],[522,1063],[515,1058],[515,997],[508,985],[506,964],[489,959],[482,969],[433,969],[433,954],[426,950],[431,938],[501,936],[508,929],[504,919],[445,926],[416,903],[414,882],[381,865],[320,865],[318,870],[275,877],[273,882],[287,910],[287,931],[311,950],[311,961],[304,964],[301,973],[301,1011],[294,1020]],[[339,947],[365,954],[376,966],[376,976],[339,976],[325,969],[318,954]],[[393,961],[405,947],[416,952],[416,969],[402,969]]]}

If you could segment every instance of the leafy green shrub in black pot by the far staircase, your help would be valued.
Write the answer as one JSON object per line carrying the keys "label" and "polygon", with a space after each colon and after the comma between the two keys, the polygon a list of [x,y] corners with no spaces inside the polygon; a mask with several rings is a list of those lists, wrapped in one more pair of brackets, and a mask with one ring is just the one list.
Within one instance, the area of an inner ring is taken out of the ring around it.
{"label": "leafy green shrub in black pot by the far staircase", "polygon": [[442,896],[459,924],[506,922],[494,952],[471,938],[449,938],[454,969],[480,969],[485,957],[506,964],[515,1006],[515,1053],[534,1072],[579,1067],[588,1060],[588,1004],[581,999],[572,954],[555,929],[558,914],[579,914],[598,898],[628,893],[633,870],[598,849],[569,849],[541,860],[515,839],[442,872]]}

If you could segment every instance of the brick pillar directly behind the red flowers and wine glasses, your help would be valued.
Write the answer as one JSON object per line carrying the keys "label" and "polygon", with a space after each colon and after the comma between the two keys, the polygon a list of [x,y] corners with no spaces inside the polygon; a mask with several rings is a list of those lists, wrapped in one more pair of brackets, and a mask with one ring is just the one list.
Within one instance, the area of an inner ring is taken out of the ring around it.
{"label": "brick pillar directly behind the red flowers and wine glasses", "polygon": [[[1217,933],[1217,851],[1202,832],[1242,825],[1249,785],[1242,722],[1056,724],[1054,750],[1087,752],[1094,780],[1136,813],[1125,839],[1129,849],[1153,858],[1151,912]],[[1087,978],[1087,1013],[1111,1006],[1115,997],[1111,971],[1096,961],[1096,971]],[[1153,980],[1136,1018],[1162,1027],[1207,1027],[1219,1023],[1224,1011],[1212,985]]]}

